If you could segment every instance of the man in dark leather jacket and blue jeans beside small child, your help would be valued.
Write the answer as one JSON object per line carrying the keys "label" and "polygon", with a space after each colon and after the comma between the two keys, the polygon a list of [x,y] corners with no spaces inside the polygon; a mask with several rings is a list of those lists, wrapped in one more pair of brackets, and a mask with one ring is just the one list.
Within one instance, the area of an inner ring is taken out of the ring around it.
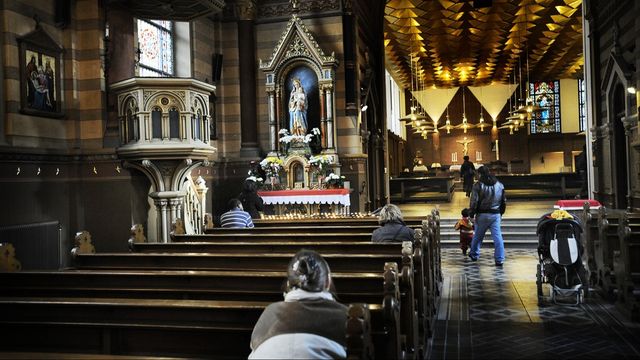
{"label": "man in dark leather jacket and blue jeans beside small child", "polygon": [[473,234],[473,240],[471,240],[469,257],[472,261],[478,260],[484,234],[489,229],[491,230],[491,236],[493,236],[495,264],[496,266],[502,266],[504,263],[504,241],[500,225],[502,214],[504,214],[507,207],[504,186],[485,166],[481,166],[478,169],[478,174],[480,179],[473,184],[469,201],[470,216],[476,217],[476,231]]}

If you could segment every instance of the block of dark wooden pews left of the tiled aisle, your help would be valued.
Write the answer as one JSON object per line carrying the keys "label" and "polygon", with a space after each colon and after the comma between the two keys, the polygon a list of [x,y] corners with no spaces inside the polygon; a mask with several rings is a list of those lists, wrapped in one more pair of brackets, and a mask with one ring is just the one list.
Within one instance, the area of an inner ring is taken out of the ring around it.
{"label": "block of dark wooden pews left of the tiled aisle", "polygon": [[254,229],[130,241],[129,253],[74,251],[64,271],[0,272],[2,352],[246,358],[263,309],[283,298],[301,248],[332,270],[349,305],[348,356],[427,356],[440,297],[440,218],[416,238],[372,244],[374,218],[257,221]]}

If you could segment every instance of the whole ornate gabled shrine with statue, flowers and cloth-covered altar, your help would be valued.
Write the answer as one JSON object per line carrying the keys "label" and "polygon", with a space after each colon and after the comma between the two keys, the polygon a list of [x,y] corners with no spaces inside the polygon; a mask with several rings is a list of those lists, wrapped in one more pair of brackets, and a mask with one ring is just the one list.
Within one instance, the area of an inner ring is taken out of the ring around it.
{"label": "whole ornate gabled shrine with statue, flowers and cloth-covered altar", "polygon": [[271,58],[260,59],[271,149],[263,161],[268,164],[261,163],[270,191],[259,194],[277,214],[349,212],[349,190],[326,189],[331,181],[324,181],[337,179],[333,185],[342,187],[334,126],[337,67],[334,54],[325,54],[295,13]]}

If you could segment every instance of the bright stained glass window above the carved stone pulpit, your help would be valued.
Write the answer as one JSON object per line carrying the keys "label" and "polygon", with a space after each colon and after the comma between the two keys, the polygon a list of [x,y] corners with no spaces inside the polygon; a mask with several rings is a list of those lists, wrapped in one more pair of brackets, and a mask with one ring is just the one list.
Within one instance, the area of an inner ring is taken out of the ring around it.
{"label": "bright stained glass window above the carved stone pulpit", "polygon": [[138,19],[140,76],[173,76],[173,23]]}

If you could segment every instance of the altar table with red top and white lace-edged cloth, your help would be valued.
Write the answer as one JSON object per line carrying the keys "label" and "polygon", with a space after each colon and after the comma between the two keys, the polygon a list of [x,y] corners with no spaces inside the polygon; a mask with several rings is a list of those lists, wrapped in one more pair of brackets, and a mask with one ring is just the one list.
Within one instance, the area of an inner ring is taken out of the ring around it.
{"label": "altar table with red top and white lace-edged cloth", "polygon": [[349,213],[351,200],[349,189],[300,189],[258,191],[265,205],[274,205],[279,214],[287,209],[286,205],[303,205],[308,214],[319,212],[320,205],[331,205],[334,213],[346,215]]}

